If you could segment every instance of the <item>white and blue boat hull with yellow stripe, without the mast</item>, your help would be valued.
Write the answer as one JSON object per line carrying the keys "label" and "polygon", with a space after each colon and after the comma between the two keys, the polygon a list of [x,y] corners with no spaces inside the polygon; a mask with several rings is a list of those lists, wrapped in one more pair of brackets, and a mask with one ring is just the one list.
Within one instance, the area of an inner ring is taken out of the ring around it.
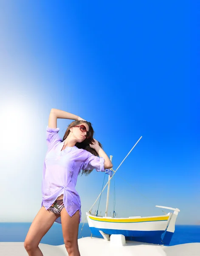
{"label": "white and blue boat hull with yellow stripe, without the mast", "polygon": [[163,244],[161,235],[165,232],[170,215],[154,217],[110,218],[96,217],[87,213],[87,221],[94,236],[121,234],[126,240]]}

